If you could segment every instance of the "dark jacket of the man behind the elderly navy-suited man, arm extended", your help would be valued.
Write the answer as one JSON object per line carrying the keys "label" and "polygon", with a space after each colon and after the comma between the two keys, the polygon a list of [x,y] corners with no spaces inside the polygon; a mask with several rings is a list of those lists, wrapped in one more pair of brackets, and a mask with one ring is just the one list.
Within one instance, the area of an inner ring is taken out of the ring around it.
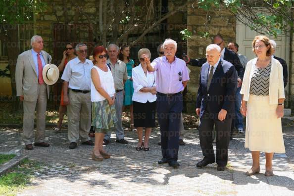
{"label": "dark jacket of the man behind the elderly navy-suited man, arm extended", "polygon": [[[238,54],[235,52],[225,48],[224,53],[224,60],[229,61],[235,66],[235,69],[238,72],[238,77],[243,79],[244,76],[244,68],[242,66],[242,63],[238,57]],[[189,64],[196,67],[201,67],[206,62],[206,58],[200,58],[200,59],[190,59]]]}

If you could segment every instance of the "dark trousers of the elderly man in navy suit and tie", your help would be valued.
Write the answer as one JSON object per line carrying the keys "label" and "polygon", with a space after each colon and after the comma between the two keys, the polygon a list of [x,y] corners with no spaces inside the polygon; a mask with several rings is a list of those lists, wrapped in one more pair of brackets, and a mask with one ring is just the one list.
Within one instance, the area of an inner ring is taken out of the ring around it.
{"label": "dark trousers of the elderly man in navy suit and tie", "polygon": [[[223,121],[214,118],[214,114],[204,112],[199,124],[199,139],[204,159],[214,162],[219,166],[226,166],[228,163],[228,147],[230,142],[230,131],[232,119]],[[216,131],[216,159],[212,146],[212,131],[215,125]]]}

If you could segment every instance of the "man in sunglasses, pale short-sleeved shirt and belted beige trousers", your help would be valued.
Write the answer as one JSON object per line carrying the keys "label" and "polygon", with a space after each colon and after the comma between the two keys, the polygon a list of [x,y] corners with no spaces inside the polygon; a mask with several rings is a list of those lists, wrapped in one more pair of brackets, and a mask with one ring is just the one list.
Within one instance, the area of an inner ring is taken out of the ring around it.
{"label": "man in sunglasses, pale short-sleeved shirt and belted beige trousers", "polygon": [[[62,74],[63,102],[67,105],[69,148],[77,147],[79,139],[83,145],[94,146],[88,134],[91,128],[91,76],[93,67],[87,59],[85,44],[77,44],[77,57],[70,60]],[[80,137],[79,137],[80,136]]]}

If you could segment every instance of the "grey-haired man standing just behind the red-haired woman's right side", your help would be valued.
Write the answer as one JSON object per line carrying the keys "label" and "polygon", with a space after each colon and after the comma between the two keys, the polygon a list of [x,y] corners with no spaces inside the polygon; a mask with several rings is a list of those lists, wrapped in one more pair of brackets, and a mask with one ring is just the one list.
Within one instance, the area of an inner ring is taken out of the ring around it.
{"label": "grey-haired man standing just behind the red-haired woman's right side", "polygon": [[[107,64],[111,67],[111,73],[114,79],[115,88],[115,112],[117,117],[117,122],[115,125],[116,142],[120,144],[128,144],[129,142],[125,140],[125,132],[122,127],[122,106],[124,101],[124,84],[128,79],[127,65],[123,61],[117,58],[119,53],[119,48],[115,44],[110,44],[107,47],[107,53],[109,59]],[[110,142],[111,133],[105,134],[103,139],[103,144],[107,145]]]}

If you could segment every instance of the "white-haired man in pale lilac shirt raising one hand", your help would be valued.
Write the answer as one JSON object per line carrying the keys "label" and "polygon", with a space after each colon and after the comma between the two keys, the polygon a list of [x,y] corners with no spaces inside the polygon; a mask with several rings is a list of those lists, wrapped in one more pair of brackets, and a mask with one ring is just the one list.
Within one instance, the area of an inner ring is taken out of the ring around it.
{"label": "white-haired man in pale lilac shirt raising one hand", "polygon": [[163,43],[164,56],[147,62],[149,72],[157,71],[157,116],[161,134],[162,159],[158,164],[168,163],[172,167],[178,167],[179,130],[180,118],[183,110],[182,91],[189,78],[184,60],[175,56],[177,43],[172,39],[166,39]]}

